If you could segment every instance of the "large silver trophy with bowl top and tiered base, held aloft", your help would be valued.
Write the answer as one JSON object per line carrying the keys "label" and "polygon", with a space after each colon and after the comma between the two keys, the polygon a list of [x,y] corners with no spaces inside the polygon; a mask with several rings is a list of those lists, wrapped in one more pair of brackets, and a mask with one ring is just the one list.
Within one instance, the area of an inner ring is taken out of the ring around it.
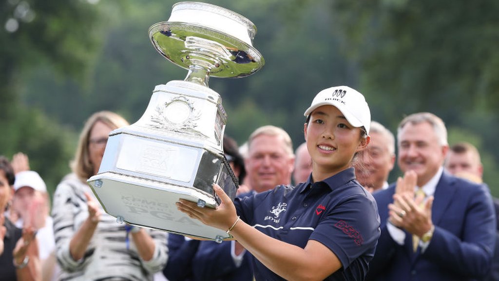
{"label": "large silver trophy with bowl top and tiered base, held aloft", "polygon": [[215,208],[213,183],[236,195],[238,182],[222,147],[227,114],[208,79],[260,69],[255,33],[246,17],[201,2],[174,4],[168,21],[149,28],[158,52],[189,72],[183,81],[157,85],[142,117],[109,134],[99,172],[88,179],[107,213],[119,222],[219,242],[230,237],[191,219],[175,202]]}

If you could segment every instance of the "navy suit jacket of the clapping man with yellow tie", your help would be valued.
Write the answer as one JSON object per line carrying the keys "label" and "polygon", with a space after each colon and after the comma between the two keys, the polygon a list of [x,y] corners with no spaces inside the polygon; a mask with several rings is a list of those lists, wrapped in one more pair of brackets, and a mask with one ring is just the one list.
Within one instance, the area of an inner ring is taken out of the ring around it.
{"label": "navy suit jacket of the clapping man with yellow tie", "polygon": [[423,253],[420,247],[413,252],[412,234],[406,231],[404,245],[399,245],[387,230],[394,192],[395,183],[373,194],[381,236],[366,280],[456,281],[487,275],[496,242],[496,215],[487,185],[442,173],[432,207],[435,231]]}

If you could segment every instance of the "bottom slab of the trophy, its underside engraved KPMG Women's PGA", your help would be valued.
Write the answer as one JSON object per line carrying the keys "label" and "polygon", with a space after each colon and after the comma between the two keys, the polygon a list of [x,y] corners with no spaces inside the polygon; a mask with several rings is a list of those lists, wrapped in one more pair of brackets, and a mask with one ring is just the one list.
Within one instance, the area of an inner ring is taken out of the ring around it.
{"label": "bottom slab of the trophy, its underside engraved KPMG Women's PGA", "polygon": [[126,222],[141,227],[160,229],[183,235],[221,242],[232,237],[226,231],[207,226],[179,211],[176,202],[186,199],[198,205],[215,208],[214,197],[199,189],[166,185],[144,178],[104,172],[88,179],[105,211]]}

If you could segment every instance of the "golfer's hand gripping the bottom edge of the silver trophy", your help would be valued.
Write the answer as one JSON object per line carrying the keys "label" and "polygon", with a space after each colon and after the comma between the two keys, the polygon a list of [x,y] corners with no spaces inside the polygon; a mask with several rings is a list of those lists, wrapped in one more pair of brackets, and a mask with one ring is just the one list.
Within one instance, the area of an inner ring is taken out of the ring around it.
{"label": "golfer's hand gripping the bottom edge of the silver trophy", "polygon": [[191,218],[199,219],[206,225],[227,231],[238,219],[236,207],[231,198],[224,192],[224,189],[218,184],[213,184],[213,190],[215,190],[221,201],[216,209],[199,207],[197,203],[184,199],[180,199],[176,203],[177,209]]}

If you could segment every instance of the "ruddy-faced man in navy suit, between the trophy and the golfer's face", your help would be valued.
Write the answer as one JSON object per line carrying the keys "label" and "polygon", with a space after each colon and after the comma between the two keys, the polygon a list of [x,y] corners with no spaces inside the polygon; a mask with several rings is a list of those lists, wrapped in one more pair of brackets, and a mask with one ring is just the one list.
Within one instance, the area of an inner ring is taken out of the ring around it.
{"label": "ruddy-faced man in navy suit, between the trophy and the golfer's face", "polygon": [[[251,187],[250,192],[263,192],[278,184],[290,184],[294,158],[291,138],[282,128],[265,125],[254,130],[248,139],[248,155],[244,161],[248,174],[245,184]],[[219,244],[170,234],[168,243],[170,259],[163,273],[170,281],[253,279],[250,252],[237,241]]]}

